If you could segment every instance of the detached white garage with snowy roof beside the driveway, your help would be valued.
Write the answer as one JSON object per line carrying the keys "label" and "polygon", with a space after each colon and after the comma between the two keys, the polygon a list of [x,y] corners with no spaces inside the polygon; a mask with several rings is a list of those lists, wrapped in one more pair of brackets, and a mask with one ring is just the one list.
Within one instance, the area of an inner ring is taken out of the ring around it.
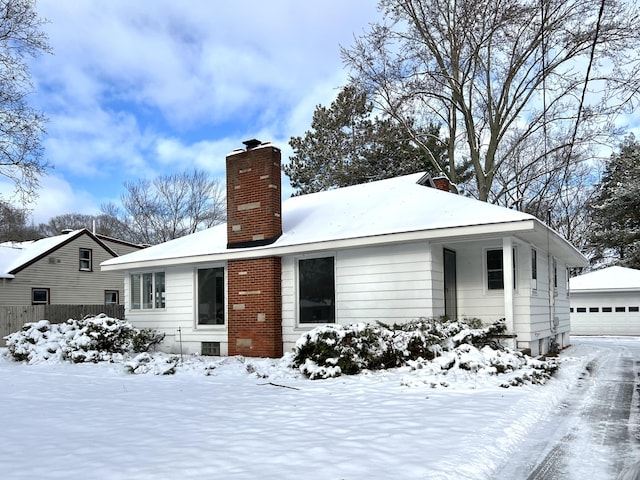
{"label": "detached white garage with snowy roof beside the driveway", "polygon": [[574,335],[640,335],[640,270],[603,268],[569,285]]}

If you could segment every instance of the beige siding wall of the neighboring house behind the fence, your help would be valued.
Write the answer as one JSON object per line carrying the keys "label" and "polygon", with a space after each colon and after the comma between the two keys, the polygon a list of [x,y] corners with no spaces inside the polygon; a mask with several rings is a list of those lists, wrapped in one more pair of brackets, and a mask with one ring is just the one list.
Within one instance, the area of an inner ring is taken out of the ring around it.
{"label": "beige siding wall of the neighboring house behind the fence", "polygon": [[[93,271],[80,271],[80,248],[92,250]],[[118,290],[122,302],[123,274],[100,270],[100,263],[110,258],[91,237],[80,235],[17,272],[14,279],[0,280],[0,305],[31,305],[32,288],[48,288],[51,304],[102,304],[105,290]]]}

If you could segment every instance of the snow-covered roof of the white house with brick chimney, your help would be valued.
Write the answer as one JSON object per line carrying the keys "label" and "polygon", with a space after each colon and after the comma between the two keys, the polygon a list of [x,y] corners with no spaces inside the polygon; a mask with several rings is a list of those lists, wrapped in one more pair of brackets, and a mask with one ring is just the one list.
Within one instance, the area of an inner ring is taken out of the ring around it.
{"label": "snow-covered roof of the white house with brick chimney", "polygon": [[423,173],[291,197],[283,234],[267,246],[227,248],[226,224],[102,263],[104,269],[254,258],[334,248],[512,232],[546,242],[571,265],[586,259],[535,217],[424,186]]}

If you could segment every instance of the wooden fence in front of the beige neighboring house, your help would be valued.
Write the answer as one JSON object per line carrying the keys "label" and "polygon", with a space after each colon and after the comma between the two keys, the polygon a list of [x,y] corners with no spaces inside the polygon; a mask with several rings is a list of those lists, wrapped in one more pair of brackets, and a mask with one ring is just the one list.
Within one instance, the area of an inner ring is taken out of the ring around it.
{"label": "wooden fence in front of the beige neighboring house", "polygon": [[24,305],[0,306],[0,346],[4,337],[17,332],[28,322],[49,320],[62,323],[70,318],[81,319],[87,315],[104,313],[109,317],[124,319],[124,305]]}

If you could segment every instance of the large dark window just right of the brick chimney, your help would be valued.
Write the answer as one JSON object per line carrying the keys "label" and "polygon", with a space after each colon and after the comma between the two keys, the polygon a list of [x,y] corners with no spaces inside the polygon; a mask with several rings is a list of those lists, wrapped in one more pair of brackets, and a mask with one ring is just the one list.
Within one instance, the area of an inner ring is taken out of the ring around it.
{"label": "large dark window just right of the brick chimney", "polygon": [[300,323],[334,323],[334,258],[299,260],[298,292]]}

